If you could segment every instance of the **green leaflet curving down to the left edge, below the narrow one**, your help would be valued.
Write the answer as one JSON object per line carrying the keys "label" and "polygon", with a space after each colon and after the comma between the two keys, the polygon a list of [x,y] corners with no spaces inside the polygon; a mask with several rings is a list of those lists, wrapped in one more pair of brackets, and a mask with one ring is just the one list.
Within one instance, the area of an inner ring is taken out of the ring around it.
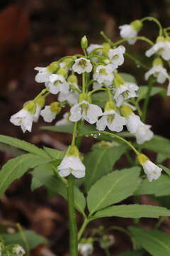
{"label": "green leaflet curving down to the left edge, below the narrow one", "polygon": [[23,174],[30,168],[34,168],[40,164],[45,164],[50,159],[42,158],[33,154],[23,154],[14,159],[9,160],[0,171],[0,196],[4,194],[8,186],[17,178],[21,178]]}

